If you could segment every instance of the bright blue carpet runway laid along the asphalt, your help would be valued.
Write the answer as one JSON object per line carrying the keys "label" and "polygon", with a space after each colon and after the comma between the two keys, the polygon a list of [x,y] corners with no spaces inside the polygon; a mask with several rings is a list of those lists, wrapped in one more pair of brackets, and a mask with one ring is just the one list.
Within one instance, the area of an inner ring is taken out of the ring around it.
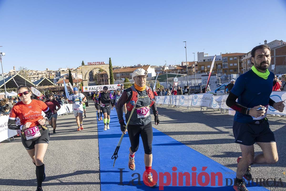
{"label": "bright blue carpet runway laid along the asphalt", "polygon": [[[112,160],[111,157],[122,133],[115,110],[111,110],[110,119],[110,129],[107,131],[103,130],[103,121],[98,122],[100,181],[102,191],[233,191],[235,172],[154,128],[152,169],[156,170],[158,174],[158,186],[150,188],[143,183],[142,178],[145,165],[141,138],[139,149],[135,154],[136,169],[132,171],[128,168],[130,147],[128,133],[124,135],[118,152],[118,159],[113,168],[114,160]],[[185,175],[183,179],[181,178],[182,173]],[[155,180],[154,173],[153,178]],[[247,188],[249,191],[267,190],[264,187],[256,186],[255,183],[253,183],[253,185],[247,184]]]}

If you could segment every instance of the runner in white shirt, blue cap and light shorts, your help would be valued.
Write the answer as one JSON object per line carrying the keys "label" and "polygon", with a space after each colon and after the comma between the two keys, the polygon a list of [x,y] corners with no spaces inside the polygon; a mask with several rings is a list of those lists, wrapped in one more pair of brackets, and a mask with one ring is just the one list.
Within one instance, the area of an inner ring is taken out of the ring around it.
{"label": "runner in white shirt, blue cap and light shorts", "polygon": [[82,113],[84,112],[82,104],[86,101],[84,94],[78,92],[78,88],[74,88],[74,93],[69,95],[68,103],[72,104],[72,110],[74,116],[76,117],[76,123],[78,125],[78,131],[83,130],[82,125]]}

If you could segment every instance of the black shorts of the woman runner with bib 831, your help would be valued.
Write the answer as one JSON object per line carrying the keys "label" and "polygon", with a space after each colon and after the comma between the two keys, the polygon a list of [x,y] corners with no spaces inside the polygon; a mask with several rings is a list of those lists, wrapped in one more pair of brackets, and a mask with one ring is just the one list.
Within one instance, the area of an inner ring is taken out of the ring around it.
{"label": "black shorts of the woman runner with bib 831", "polygon": [[21,135],[21,141],[22,144],[24,145],[24,147],[27,150],[31,150],[35,148],[35,144],[39,144],[39,143],[49,143],[50,140],[50,132],[49,129],[41,129],[41,136],[40,137],[36,137],[33,139],[24,139],[23,135]]}

